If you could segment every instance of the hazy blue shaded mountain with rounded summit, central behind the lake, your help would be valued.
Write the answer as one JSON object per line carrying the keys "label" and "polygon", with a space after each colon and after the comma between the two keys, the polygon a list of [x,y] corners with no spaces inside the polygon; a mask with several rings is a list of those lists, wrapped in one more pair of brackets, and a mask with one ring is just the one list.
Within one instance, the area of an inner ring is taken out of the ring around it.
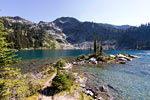
{"label": "hazy blue shaded mountain with rounded summit, central behind the lake", "polygon": [[121,33],[130,27],[80,22],[72,17],[61,17],[53,22],[40,22],[39,26],[47,32],[64,33],[66,41],[81,49],[90,48],[93,45],[95,35],[98,41],[103,40],[105,49],[116,49],[118,48],[117,40]]}

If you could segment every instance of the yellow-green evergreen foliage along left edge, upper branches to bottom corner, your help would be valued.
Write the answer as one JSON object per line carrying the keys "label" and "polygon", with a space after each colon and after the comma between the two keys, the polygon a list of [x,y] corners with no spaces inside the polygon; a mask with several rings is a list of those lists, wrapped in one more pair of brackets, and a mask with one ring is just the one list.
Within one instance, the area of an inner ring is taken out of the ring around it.
{"label": "yellow-green evergreen foliage along left edge, upper branches to bottom corner", "polygon": [[8,47],[11,45],[6,42],[4,26],[0,23],[0,100],[18,100],[25,97],[28,86],[20,69],[8,67],[18,62],[15,59],[15,51]]}

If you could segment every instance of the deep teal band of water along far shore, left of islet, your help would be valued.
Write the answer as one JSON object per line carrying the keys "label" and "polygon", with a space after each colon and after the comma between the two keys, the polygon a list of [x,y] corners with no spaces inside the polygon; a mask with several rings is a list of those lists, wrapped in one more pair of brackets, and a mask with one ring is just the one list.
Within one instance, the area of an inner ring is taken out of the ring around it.
{"label": "deep teal band of water along far shore, left of islet", "polygon": [[74,57],[80,54],[89,54],[89,50],[21,50],[18,51],[18,57],[22,60],[31,59],[56,59],[62,57]]}

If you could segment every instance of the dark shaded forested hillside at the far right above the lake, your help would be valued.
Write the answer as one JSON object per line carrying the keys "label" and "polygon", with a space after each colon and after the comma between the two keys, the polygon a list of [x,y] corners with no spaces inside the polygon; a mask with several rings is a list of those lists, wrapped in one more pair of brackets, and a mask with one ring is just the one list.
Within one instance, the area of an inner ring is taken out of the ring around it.
{"label": "dark shaded forested hillside at the far right above the lake", "polygon": [[119,49],[150,49],[150,24],[125,30],[118,40]]}

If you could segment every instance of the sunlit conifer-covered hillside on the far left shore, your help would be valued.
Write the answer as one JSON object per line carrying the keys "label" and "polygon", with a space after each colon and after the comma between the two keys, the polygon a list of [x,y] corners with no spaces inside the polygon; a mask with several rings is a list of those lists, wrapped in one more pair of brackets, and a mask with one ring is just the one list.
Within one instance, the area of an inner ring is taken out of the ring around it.
{"label": "sunlit conifer-covered hillside on the far left shore", "polygon": [[[43,46],[48,46],[44,44],[44,39],[46,37],[46,31],[39,28],[34,23],[21,23],[21,22],[11,22],[8,18],[2,18],[3,24],[6,31],[9,33],[7,36],[8,42],[14,43],[15,49],[21,48],[38,48]],[[23,20],[23,19],[21,19]],[[12,20],[13,21],[13,20]],[[55,48],[54,36],[47,37],[46,41],[51,45],[50,48]]]}

